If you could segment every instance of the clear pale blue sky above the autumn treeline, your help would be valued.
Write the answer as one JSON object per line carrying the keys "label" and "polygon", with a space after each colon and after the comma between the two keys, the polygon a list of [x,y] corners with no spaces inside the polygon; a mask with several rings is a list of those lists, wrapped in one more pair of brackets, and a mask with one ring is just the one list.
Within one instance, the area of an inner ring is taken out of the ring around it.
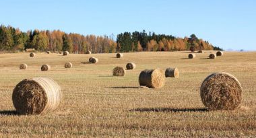
{"label": "clear pale blue sky above the autumn treeline", "polygon": [[255,0],[1,0],[0,13],[0,24],[22,31],[196,34],[224,49],[256,50]]}

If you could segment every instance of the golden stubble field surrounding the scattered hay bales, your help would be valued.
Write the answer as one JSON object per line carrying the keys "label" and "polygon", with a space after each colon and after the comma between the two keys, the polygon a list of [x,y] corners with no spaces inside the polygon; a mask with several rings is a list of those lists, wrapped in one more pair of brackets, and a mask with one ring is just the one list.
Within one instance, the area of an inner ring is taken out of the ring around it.
{"label": "golden stubble field surrounding the scattered hay bales", "polygon": [[[256,52],[224,53],[207,59],[210,52],[124,53],[75,55],[29,53],[0,55],[0,137],[256,137]],[[97,64],[88,63],[97,57]],[[66,62],[73,63],[65,69]],[[136,69],[113,77],[117,66],[129,62]],[[28,69],[20,70],[22,63]],[[43,64],[51,71],[40,71]],[[179,78],[166,78],[164,88],[139,88],[143,69],[178,67]],[[215,72],[234,75],[243,86],[241,106],[234,111],[208,111],[199,88]],[[55,112],[18,115],[12,91],[22,79],[50,77],[63,91]]]}

